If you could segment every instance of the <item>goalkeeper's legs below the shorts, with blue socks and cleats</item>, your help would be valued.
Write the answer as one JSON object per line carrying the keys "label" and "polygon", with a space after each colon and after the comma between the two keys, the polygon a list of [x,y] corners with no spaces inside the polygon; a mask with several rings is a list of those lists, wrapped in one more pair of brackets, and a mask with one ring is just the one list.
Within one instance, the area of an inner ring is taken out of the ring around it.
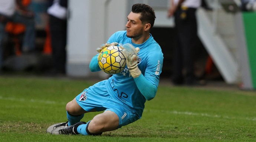
{"label": "goalkeeper's legs below the shorts, with blue socks and cleats", "polygon": [[68,112],[69,125],[75,122],[78,123],[71,126],[59,126],[51,131],[52,134],[100,135],[102,132],[115,130],[119,126],[119,117],[112,111],[105,111],[94,116],[87,124],[79,122],[86,111],[77,104],[76,99],[66,105],[66,110]]}

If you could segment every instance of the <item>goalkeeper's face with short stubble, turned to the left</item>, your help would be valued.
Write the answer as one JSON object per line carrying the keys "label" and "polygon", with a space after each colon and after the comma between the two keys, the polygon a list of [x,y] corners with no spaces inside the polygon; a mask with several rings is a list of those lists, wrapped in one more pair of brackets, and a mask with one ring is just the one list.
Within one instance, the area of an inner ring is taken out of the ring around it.
{"label": "goalkeeper's face with short stubble, turned to the left", "polygon": [[127,16],[127,24],[125,25],[127,37],[140,38],[142,36],[144,25],[139,17],[140,14],[132,12]]}

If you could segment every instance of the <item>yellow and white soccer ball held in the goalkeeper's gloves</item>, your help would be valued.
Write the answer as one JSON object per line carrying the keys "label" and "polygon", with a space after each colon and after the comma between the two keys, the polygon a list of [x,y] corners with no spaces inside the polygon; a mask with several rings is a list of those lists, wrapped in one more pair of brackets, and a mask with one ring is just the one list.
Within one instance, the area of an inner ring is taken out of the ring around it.
{"label": "yellow and white soccer ball held in the goalkeeper's gloves", "polygon": [[122,48],[109,46],[103,48],[98,56],[98,64],[101,70],[107,74],[118,74],[126,65]]}

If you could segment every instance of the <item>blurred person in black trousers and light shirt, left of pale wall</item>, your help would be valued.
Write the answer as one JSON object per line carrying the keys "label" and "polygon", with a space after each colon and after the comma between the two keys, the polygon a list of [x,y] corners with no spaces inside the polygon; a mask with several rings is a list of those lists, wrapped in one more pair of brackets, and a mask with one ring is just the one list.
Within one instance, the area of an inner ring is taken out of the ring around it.
{"label": "blurred person in black trousers and light shirt, left of pale wall", "polygon": [[52,75],[66,74],[68,0],[49,0],[49,27],[52,46]]}

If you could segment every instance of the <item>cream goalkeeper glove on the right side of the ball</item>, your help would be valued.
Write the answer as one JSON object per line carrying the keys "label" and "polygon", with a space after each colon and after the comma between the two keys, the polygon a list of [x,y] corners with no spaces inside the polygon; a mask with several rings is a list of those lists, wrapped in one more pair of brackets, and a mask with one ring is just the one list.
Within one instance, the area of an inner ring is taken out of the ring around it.
{"label": "cream goalkeeper glove on the right side of the ball", "polygon": [[127,43],[123,46],[120,46],[122,50],[124,51],[124,55],[126,58],[126,65],[129,69],[129,72],[133,78],[137,78],[140,76],[141,71],[138,68],[138,52],[140,51],[140,48],[136,47],[134,48],[133,45]]}

